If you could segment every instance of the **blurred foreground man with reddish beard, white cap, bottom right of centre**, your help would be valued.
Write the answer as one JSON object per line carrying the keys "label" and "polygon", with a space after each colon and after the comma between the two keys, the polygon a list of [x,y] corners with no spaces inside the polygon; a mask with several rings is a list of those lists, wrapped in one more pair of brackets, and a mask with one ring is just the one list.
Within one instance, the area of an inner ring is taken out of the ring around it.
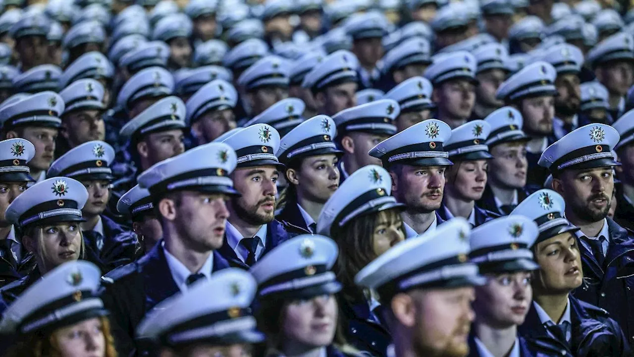
{"label": "blurred foreground man with reddish beard, white cap, bottom right of centre", "polygon": [[[357,274],[356,283],[377,291],[389,310],[384,316],[389,317],[396,356],[469,353],[473,286],[484,284],[467,257],[469,234],[466,220],[453,219],[393,246]],[[452,273],[441,273],[446,269]]]}

